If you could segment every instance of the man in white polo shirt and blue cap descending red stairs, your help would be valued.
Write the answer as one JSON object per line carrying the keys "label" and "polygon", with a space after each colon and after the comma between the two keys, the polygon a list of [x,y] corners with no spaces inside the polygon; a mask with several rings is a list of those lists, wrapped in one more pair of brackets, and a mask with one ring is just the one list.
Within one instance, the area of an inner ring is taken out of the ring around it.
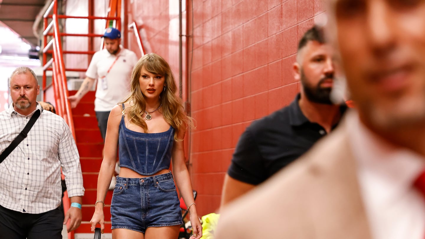
{"label": "man in white polo shirt and blue cap descending red stairs", "polygon": [[71,108],[75,108],[97,78],[94,111],[100,133],[105,141],[109,113],[113,106],[128,94],[130,74],[137,63],[137,57],[133,51],[120,45],[121,32],[118,29],[106,28],[102,37],[105,38],[106,48],[93,55],[85,73],[85,80],[77,94],[68,97],[68,100],[71,102]]}

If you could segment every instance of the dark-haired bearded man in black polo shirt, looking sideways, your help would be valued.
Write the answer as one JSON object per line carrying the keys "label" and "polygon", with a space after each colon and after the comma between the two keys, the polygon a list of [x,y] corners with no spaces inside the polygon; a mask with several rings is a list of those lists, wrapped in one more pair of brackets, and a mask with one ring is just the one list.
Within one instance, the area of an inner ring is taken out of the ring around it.
{"label": "dark-haired bearded man in black polo shirt, looking sideways", "polygon": [[221,206],[266,181],[337,126],[346,105],[331,101],[335,59],[320,27],[306,31],[293,65],[300,92],[290,105],[254,121],[241,135],[224,179]]}

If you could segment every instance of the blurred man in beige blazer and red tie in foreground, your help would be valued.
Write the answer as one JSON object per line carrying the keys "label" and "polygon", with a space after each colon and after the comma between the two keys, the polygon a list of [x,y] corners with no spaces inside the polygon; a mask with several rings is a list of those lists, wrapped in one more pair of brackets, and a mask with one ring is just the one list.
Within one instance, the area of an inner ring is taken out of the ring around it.
{"label": "blurred man in beige blazer and red tie in foreground", "polygon": [[328,3],[357,110],[225,208],[219,239],[425,236],[425,1]]}

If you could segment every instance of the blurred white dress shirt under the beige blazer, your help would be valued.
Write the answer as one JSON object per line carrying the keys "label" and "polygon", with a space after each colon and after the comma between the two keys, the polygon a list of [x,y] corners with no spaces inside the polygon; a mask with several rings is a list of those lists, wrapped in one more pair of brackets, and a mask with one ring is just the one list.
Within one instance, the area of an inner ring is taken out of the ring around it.
{"label": "blurred white dress shirt under the beige blazer", "polygon": [[423,239],[425,199],[413,183],[425,159],[384,142],[360,122],[355,111],[346,120],[373,238]]}

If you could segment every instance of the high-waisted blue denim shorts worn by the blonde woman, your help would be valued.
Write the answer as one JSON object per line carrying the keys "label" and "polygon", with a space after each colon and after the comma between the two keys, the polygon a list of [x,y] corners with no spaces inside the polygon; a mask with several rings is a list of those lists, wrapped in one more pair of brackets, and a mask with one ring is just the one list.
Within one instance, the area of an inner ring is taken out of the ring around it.
{"label": "high-waisted blue denim shorts worn by the blonde woman", "polygon": [[116,177],[111,202],[111,229],[144,233],[148,227],[183,224],[173,174],[145,178]]}

